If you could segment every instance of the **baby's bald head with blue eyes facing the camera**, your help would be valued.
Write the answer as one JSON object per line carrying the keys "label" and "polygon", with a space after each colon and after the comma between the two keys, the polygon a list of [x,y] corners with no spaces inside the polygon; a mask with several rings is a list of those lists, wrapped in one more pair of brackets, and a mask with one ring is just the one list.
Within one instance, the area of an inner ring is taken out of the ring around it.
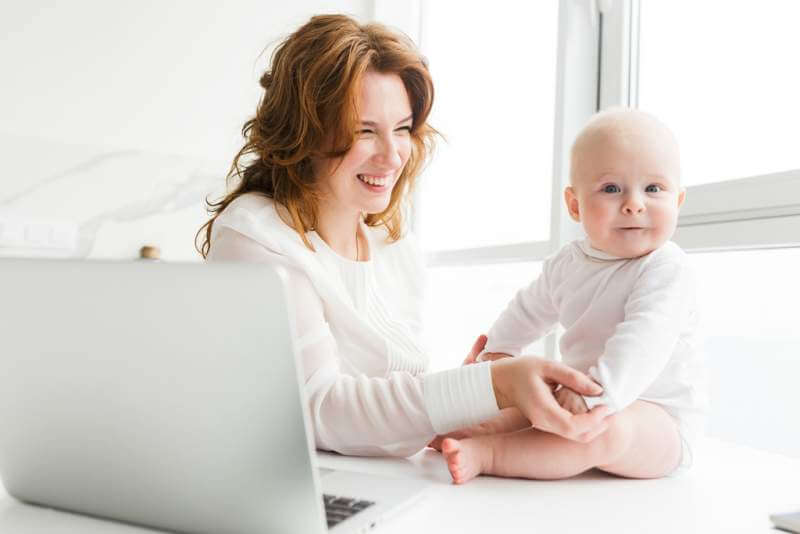
{"label": "baby's bald head with blue eyes facing the camera", "polygon": [[678,143],[652,115],[598,113],[572,145],[564,198],[598,250],[637,258],[657,249],[675,232],[684,197]]}

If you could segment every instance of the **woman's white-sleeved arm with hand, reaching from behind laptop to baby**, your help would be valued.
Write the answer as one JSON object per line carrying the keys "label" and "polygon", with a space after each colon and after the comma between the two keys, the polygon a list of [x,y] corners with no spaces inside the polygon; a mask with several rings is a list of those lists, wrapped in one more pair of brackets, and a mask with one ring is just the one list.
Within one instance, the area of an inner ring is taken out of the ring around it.
{"label": "woman's white-sleeved arm with hand, reaching from behind laptop to baby", "polygon": [[[224,227],[216,233],[209,260],[286,263],[279,254]],[[597,393],[597,385],[577,371],[537,358],[507,358],[499,367],[503,362],[486,362],[422,376],[344,374],[316,290],[304,273],[291,265],[287,271],[295,349],[318,448],[350,455],[408,456],[437,433],[479,424],[497,415],[499,408],[513,406],[537,428],[572,439],[601,425],[597,410],[585,417],[562,410],[548,384],[560,378],[560,383],[585,394]]]}

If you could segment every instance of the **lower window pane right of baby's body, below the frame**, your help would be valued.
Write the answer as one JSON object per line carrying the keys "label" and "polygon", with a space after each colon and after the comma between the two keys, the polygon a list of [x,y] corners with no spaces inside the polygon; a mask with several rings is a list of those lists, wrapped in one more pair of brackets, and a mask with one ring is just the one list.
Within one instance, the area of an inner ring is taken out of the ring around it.
{"label": "lower window pane right of baby's body, below the frame", "polygon": [[709,434],[800,455],[800,248],[694,254],[692,262],[702,280]]}

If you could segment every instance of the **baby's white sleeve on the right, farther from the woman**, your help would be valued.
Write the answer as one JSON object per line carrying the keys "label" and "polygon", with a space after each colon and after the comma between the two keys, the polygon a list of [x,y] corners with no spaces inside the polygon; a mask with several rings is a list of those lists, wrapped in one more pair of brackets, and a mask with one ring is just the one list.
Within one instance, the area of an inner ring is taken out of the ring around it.
{"label": "baby's white sleeve on the right, farther from the woman", "polygon": [[673,254],[644,265],[625,303],[623,321],[589,369],[604,390],[600,397],[584,397],[590,409],[605,404],[622,410],[656,380],[686,327],[693,284],[688,265]]}

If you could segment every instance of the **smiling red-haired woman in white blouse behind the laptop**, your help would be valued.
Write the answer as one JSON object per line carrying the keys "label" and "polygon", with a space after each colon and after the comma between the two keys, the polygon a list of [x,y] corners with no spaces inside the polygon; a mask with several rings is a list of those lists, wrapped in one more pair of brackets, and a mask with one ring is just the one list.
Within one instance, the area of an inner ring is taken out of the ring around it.
{"label": "smiling red-haired woman in white blouse behind the laptop", "polygon": [[381,25],[313,17],[276,49],[261,86],[229,174],[238,183],[210,205],[200,250],[288,270],[317,447],[407,456],[513,407],[572,439],[601,432],[602,409],[571,416],[551,389],[600,387],[555,362],[424,374],[424,271],[404,215],[435,131],[433,85],[413,44]]}

